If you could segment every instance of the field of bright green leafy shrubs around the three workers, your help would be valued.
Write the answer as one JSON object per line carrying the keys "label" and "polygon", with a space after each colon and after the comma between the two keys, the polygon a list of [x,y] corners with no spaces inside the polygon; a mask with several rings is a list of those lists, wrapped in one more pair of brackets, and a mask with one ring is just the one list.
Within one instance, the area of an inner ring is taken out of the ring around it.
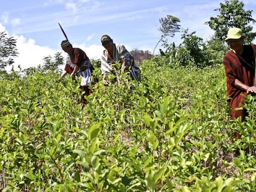
{"label": "field of bright green leafy shrubs around the three workers", "polygon": [[2,75],[1,190],[255,191],[255,99],[232,121],[223,65],[140,67],[140,83],[100,81],[83,109],[69,77]]}

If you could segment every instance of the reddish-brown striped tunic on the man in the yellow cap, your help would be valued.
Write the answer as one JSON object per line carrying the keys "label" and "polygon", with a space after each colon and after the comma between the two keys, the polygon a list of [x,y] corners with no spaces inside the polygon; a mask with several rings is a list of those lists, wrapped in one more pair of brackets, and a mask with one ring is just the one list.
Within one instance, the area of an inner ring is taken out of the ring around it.
{"label": "reddish-brown striped tunic on the man in the yellow cap", "polygon": [[[256,45],[244,45],[242,57],[245,61],[255,66]],[[237,79],[247,86],[254,85],[255,70],[247,67],[247,65],[239,59],[233,52],[229,51],[223,59],[224,69],[226,73],[227,82],[227,96],[229,102],[229,109],[231,109],[231,117],[242,117],[244,120],[245,110],[242,109],[242,104],[247,96],[246,91],[236,88],[234,81]]]}

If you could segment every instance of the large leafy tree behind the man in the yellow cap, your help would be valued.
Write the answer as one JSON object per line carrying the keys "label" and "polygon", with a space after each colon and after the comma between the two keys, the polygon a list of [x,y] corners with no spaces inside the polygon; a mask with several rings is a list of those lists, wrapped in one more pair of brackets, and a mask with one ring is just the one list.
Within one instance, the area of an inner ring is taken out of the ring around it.
{"label": "large leafy tree behind the man in the yellow cap", "polygon": [[220,3],[220,8],[215,9],[220,11],[217,17],[210,17],[210,21],[205,22],[215,31],[215,38],[220,38],[224,42],[229,28],[238,27],[244,31],[245,43],[250,43],[254,40],[256,33],[252,33],[250,22],[255,23],[252,19],[252,10],[244,10],[244,3],[238,0],[226,0],[225,3]]}

